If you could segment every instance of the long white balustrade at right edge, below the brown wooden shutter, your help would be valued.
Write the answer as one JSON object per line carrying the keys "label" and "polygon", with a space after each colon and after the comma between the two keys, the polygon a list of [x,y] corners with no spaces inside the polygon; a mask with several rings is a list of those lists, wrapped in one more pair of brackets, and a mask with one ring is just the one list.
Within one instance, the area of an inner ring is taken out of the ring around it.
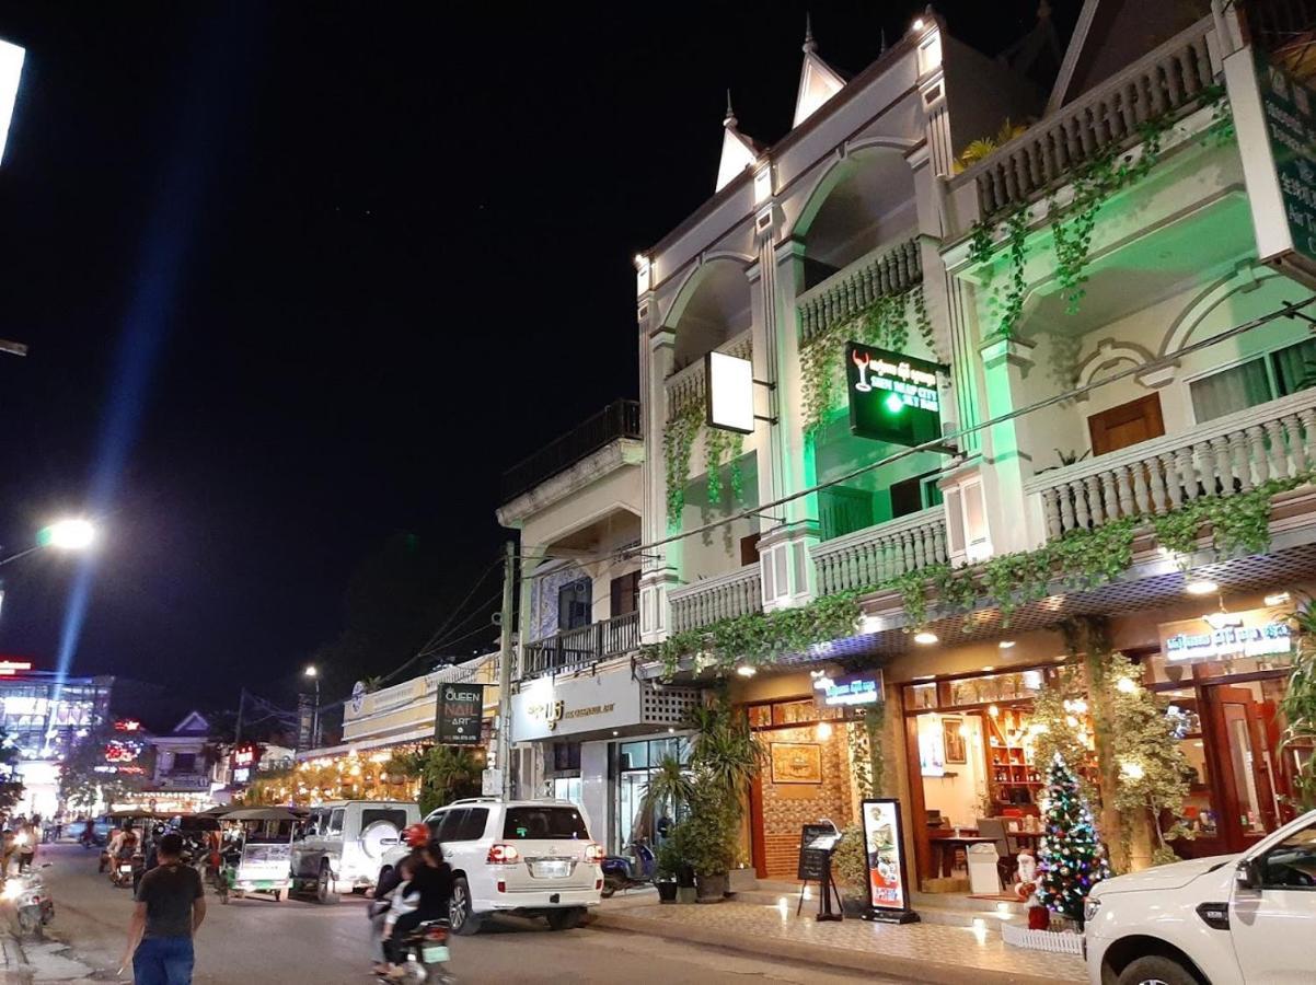
{"label": "long white balustrade at right edge, below the brown wooden shutter", "polygon": [[1154,438],[1024,485],[1041,497],[1045,537],[1121,517],[1166,513],[1203,496],[1233,496],[1316,466],[1316,389]]}

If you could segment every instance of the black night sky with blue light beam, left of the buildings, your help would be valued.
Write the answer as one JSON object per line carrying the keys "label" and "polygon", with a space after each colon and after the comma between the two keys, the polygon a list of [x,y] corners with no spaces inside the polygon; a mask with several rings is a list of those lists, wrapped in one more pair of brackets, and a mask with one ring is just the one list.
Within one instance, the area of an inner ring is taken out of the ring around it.
{"label": "black night sky with blue light beam, left of the buildings", "polygon": [[[940,9],[992,53],[1036,11],[976,5]],[[855,72],[921,5],[808,7]],[[108,479],[72,672],[274,686],[397,531],[455,604],[500,471],[636,396],[630,258],[712,192],[728,85],[786,133],[804,9],[0,3],[0,337],[32,348],[0,356],[0,554]],[[54,665],[75,569],[0,569],[0,652]]]}

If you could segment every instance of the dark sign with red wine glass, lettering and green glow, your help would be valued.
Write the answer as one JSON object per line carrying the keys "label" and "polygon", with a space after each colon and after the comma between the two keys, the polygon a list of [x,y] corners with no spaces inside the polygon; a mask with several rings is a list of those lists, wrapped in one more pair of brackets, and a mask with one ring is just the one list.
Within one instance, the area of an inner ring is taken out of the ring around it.
{"label": "dark sign with red wine glass, lettering and green glow", "polygon": [[845,346],[850,431],[891,444],[923,444],[941,437],[941,395],[936,363],[873,348]]}

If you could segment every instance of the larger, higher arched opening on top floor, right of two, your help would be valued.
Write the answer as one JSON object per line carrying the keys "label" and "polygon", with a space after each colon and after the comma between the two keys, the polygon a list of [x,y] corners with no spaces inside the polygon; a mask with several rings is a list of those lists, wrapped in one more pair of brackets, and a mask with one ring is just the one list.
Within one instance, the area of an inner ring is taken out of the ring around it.
{"label": "larger, higher arched opening on top floor, right of two", "polygon": [[796,224],[804,238],[804,289],[917,225],[913,172],[892,147],[854,151],[815,189]]}

